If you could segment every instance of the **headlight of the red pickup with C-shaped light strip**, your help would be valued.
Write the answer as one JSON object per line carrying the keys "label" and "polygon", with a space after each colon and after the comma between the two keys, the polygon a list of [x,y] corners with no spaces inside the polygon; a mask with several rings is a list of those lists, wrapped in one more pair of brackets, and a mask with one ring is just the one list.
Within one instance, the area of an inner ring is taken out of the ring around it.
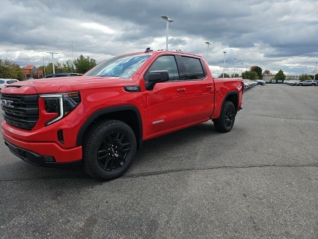
{"label": "headlight of the red pickup with C-shaped light strip", "polygon": [[70,114],[80,103],[79,92],[40,95],[39,97],[44,98],[46,112],[59,114],[57,118],[50,120],[46,125],[52,124]]}

